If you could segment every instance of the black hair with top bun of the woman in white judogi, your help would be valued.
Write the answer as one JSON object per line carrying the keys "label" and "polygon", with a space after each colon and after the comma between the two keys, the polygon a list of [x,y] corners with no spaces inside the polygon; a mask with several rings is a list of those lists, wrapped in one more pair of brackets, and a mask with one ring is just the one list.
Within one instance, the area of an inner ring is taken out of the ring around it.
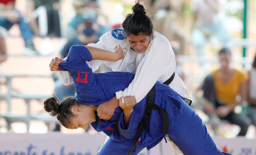
{"label": "black hair with top bun of the woman in white judogi", "polygon": [[122,27],[127,36],[139,35],[144,33],[145,35],[151,35],[153,31],[153,23],[151,19],[146,15],[145,8],[140,4],[142,0],[136,0],[135,5],[132,7],[133,14],[127,14]]}

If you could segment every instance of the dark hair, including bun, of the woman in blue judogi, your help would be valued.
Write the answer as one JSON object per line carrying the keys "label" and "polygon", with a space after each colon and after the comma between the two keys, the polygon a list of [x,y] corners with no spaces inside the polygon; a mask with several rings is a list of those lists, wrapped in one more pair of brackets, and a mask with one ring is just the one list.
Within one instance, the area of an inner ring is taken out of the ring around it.
{"label": "dark hair, including bun, of the woman in blue judogi", "polygon": [[71,96],[65,98],[60,103],[59,99],[55,95],[53,96],[54,97],[50,97],[43,102],[44,109],[50,113],[51,116],[57,115],[57,120],[59,120],[64,127],[68,128],[68,125],[71,123],[71,119],[74,117],[71,108],[74,105],[79,106],[79,102]]}

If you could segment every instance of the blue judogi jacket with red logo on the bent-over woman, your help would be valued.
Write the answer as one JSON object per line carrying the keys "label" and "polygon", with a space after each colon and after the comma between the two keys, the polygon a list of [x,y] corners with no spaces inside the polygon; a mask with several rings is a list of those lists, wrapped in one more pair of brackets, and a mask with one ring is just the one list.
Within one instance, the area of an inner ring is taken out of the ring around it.
{"label": "blue judogi jacket with red logo on the bent-over woman", "polygon": [[[129,72],[93,73],[92,69],[86,64],[86,61],[91,60],[91,53],[85,46],[72,46],[66,62],[60,63],[59,70],[69,71],[72,76],[76,88],[75,97],[78,102],[99,106],[114,97],[115,92],[127,88],[133,80],[134,74]],[[146,97],[134,106],[127,129],[124,128],[123,111],[120,107],[115,109],[115,113],[110,120],[98,118],[97,112],[95,112],[96,122],[91,123],[91,126],[98,132],[103,131],[117,142],[132,141],[144,115]],[[172,100],[175,102],[172,102]],[[156,83],[155,104],[167,111],[170,125],[181,113],[181,102],[182,98],[169,86],[160,82]],[[134,150],[144,147],[149,150],[164,137],[161,113],[158,110],[153,110],[146,129],[141,135],[140,144]]]}

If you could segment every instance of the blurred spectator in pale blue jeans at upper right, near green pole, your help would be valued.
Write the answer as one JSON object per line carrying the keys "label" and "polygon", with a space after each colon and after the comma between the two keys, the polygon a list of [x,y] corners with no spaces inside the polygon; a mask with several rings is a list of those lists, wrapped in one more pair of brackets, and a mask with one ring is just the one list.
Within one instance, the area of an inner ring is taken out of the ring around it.
{"label": "blurred spectator in pale blue jeans at upper right, near green pole", "polygon": [[[204,45],[212,36],[218,38],[223,47],[230,48],[231,36],[223,19],[223,0],[192,0],[191,9],[195,13],[191,42],[197,56],[204,56]],[[203,65],[203,64],[201,64]]]}

